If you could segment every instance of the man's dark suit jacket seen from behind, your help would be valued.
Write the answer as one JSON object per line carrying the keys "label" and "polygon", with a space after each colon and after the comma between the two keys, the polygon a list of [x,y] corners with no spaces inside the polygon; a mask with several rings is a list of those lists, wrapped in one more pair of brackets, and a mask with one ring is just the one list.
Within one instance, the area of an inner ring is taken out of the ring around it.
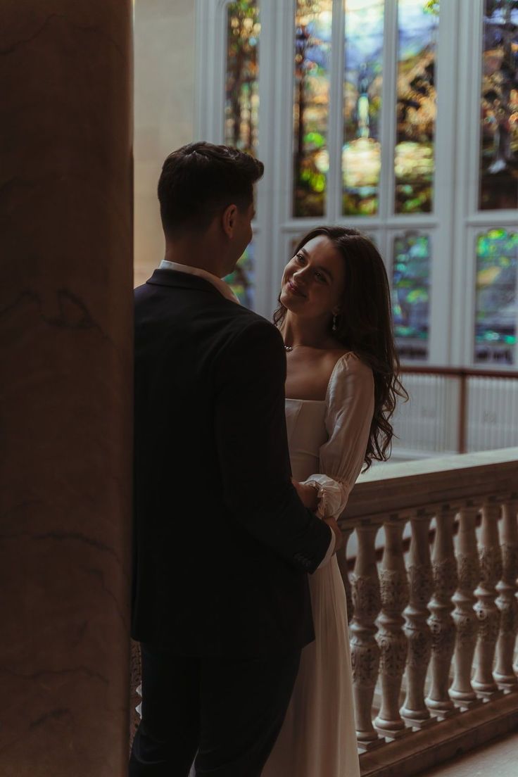
{"label": "man's dark suit jacket seen from behind", "polygon": [[331,535],[290,483],[280,333],[174,270],[135,298],[133,637],[186,656],[296,650]]}

